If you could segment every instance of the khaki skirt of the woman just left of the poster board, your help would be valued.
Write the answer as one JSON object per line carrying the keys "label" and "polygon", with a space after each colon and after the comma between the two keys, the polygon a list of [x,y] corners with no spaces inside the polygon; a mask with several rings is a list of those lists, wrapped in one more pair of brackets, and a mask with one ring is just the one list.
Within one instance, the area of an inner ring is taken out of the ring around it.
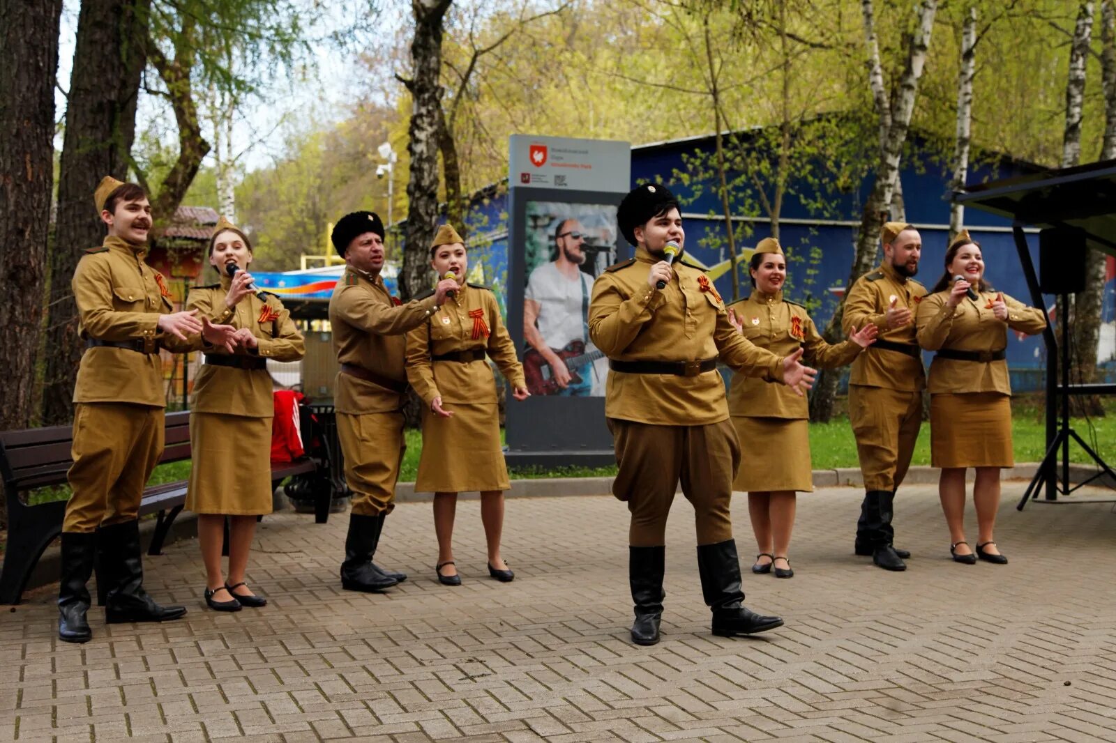
{"label": "khaki skirt of the woman just left of the poster board", "polygon": [[508,490],[508,465],[500,444],[496,403],[443,403],[443,418],[430,408],[422,416],[422,455],[415,490],[420,493],[472,493]]}

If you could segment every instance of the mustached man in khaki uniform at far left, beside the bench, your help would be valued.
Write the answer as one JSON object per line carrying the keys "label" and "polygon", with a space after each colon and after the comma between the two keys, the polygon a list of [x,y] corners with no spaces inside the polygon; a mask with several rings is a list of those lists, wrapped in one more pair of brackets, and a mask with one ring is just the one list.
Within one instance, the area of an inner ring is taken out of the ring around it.
{"label": "mustached man in khaki uniform at far left, beside the bench", "polygon": [[140,501],[163,453],[160,348],[187,350],[202,334],[231,347],[234,328],[173,312],[163,276],[144,262],[151,204],[143,189],[105,177],[94,203],[108,235],[78,261],[71,287],[86,351],[74,388],[74,465],[67,477],[58,587],[58,637],[88,641],[96,551],[107,582],[105,621],[164,621],[186,612],[160,606],[143,588]]}

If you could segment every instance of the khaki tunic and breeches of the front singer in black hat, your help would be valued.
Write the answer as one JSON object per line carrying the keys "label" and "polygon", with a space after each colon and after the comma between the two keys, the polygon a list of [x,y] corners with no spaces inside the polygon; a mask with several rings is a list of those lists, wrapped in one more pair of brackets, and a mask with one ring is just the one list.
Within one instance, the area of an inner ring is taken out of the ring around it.
{"label": "khaki tunic and breeches of the front singer in black hat", "polygon": [[664,543],[666,517],[679,481],[694,505],[698,542],[732,539],[729,504],[740,445],[729,422],[720,359],[735,372],[782,380],[782,359],[752,345],[729,322],[724,302],[705,273],[682,262],[658,290],[647,283],[658,258],[637,249],[593,286],[589,337],[610,361],[682,361],[691,376],[610,369],[605,415],[618,473],[613,493],[632,512],[629,543]]}

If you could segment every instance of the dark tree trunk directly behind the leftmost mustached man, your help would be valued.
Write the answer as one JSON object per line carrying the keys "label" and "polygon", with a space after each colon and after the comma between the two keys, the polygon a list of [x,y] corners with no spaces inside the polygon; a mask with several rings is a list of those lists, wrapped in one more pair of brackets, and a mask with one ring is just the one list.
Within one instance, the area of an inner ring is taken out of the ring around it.
{"label": "dark tree trunk directly behind the leftmost mustached man", "polygon": [[74,382],[85,349],[77,337],[70,278],[81,250],[100,244],[105,235],[93,190],[106,175],[127,178],[150,7],[151,0],[87,0],[78,15],[49,254],[46,425],[73,418]]}

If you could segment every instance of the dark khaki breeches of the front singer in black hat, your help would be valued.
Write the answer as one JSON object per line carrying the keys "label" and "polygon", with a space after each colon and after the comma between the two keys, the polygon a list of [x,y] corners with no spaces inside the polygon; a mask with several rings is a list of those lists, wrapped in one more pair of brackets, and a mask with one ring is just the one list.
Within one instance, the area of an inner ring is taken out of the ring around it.
{"label": "dark khaki breeches of the front singer in black hat", "polygon": [[694,506],[699,544],[732,539],[732,477],[740,444],[729,421],[703,426],[657,426],[608,418],[618,472],[613,494],[632,513],[628,543],[666,543],[666,518],[674,492]]}

